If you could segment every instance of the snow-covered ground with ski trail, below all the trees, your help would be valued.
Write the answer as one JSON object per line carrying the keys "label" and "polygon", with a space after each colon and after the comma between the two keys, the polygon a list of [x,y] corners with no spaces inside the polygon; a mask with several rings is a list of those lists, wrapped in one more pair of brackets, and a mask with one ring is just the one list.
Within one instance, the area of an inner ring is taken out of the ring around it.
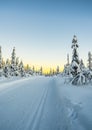
{"label": "snow-covered ground with ski trail, below all the trees", "polygon": [[2,78],[0,130],[92,130],[92,87],[62,77]]}

